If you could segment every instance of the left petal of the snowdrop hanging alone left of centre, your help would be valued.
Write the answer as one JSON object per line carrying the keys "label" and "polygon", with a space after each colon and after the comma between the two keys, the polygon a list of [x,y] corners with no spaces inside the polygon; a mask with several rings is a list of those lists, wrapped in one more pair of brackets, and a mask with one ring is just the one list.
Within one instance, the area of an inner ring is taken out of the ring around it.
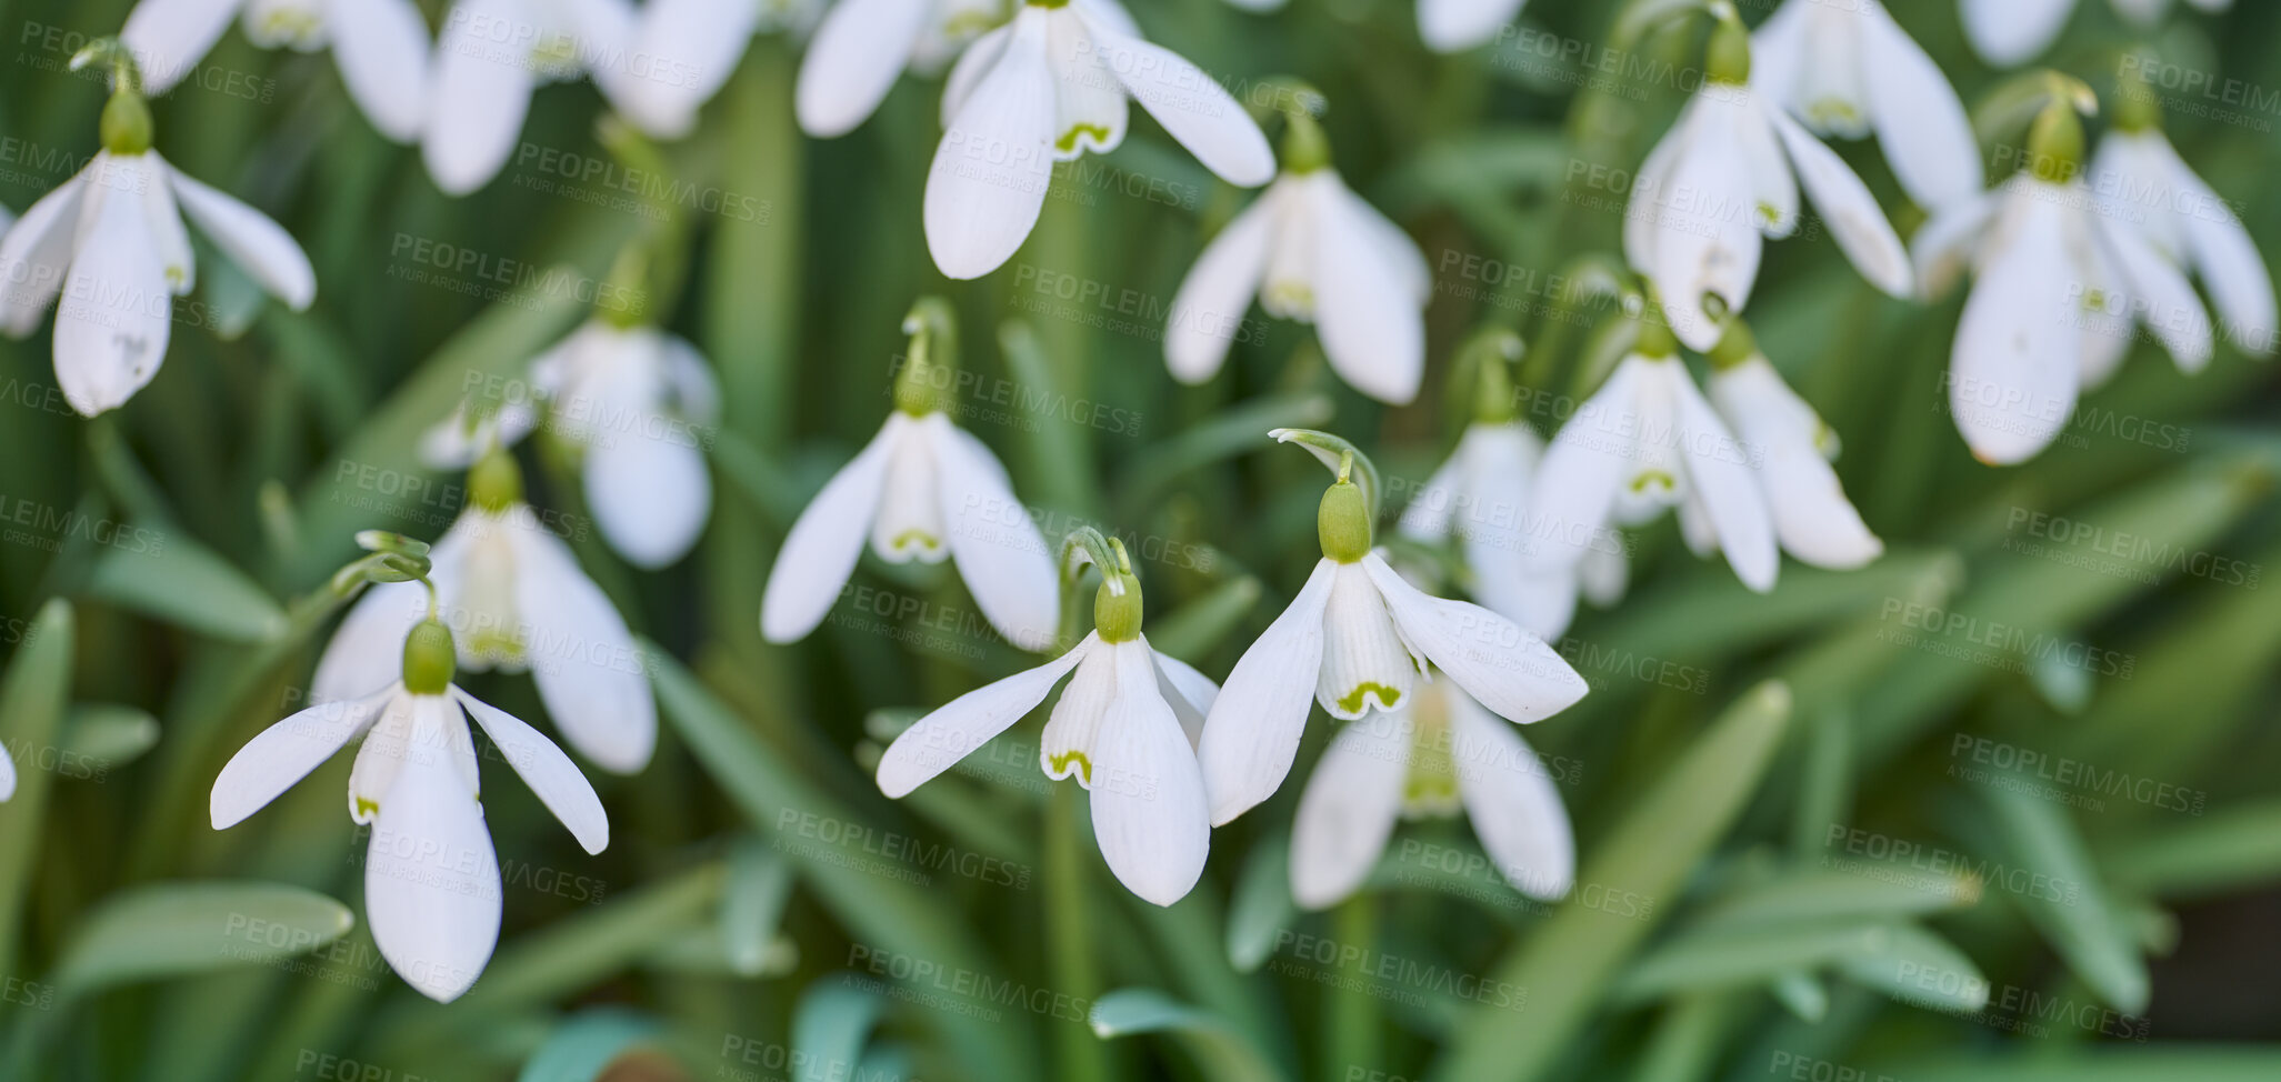
{"label": "left petal of the snowdrop hanging alone left of centre", "polygon": [[769,587],[760,598],[760,632],[776,644],[807,637],[839,598],[871,536],[880,491],[887,486],[887,459],[908,434],[910,418],[901,411],[871,436],[853,461],[839,468],[823,491],[807,502],[785,534],[785,548],[769,568]]}

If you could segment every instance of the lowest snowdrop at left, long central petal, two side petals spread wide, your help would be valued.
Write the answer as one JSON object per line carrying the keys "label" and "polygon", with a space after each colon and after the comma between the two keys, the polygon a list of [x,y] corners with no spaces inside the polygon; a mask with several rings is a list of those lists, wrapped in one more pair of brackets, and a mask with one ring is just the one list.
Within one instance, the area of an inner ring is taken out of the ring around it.
{"label": "lowest snowdrop at left, long central petal, two side petals spread wide", "polygon": [[[388,657],[397,653],[392,644],[360,646],[379,653],[372,662],[397,669]],[[349,817],[372,824],[365,920],[388,966],[438,1002],[465,993],[500,943],[500,858],[484,822],[468,717],[582,849],[609,847],[609,817],[570,756],[506,710],[461,692],[452,683],[452,632],[440,621],[411,625],[399,676],[265,728],[221,767],[210,808],[217,831],[237,826],[363,737],[349,772]]]}

